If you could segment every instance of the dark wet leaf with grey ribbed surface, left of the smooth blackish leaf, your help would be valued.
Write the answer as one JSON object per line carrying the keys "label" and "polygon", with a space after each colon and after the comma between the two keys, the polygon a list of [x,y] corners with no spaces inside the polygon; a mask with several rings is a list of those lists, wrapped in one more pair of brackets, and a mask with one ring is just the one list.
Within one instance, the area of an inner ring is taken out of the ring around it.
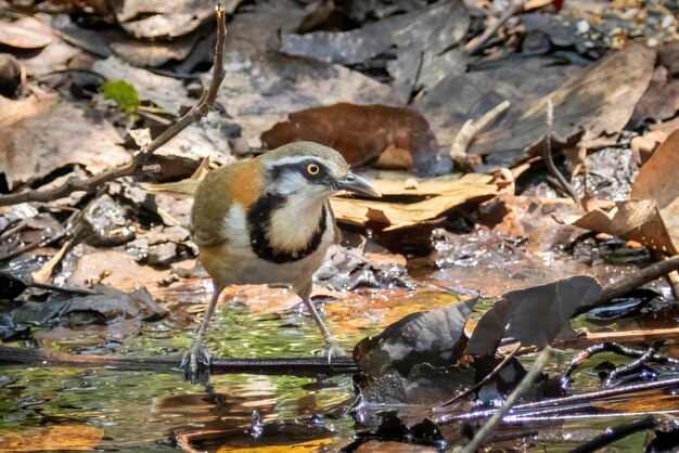
{"label": "dark wet leaf with grey ribbed surface, left of the smooth blackish leaf", "polygon": [[380,335],[359,341],[354,359],[361,371],[373,377],[394,371],[408,376],[420,364],[454,364],[464,349],[464,325],[477,300],[411,313]]}

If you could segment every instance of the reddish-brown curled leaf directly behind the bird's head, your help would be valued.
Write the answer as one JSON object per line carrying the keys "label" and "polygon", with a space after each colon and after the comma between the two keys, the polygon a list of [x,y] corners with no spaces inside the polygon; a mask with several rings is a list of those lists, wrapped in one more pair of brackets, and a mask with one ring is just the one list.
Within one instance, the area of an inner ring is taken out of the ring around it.
{"label": "reddish-brown curled leaf directly behind the bird's head", "polygon": [[261,134],[270,150],[296,141],[312,141],[337,150],[351,165],[376,160],[387,148],[405,151],[402,167],[427,174],[437,160],[436,139],[415,111],[386,105],[340,103],[289,115]]}

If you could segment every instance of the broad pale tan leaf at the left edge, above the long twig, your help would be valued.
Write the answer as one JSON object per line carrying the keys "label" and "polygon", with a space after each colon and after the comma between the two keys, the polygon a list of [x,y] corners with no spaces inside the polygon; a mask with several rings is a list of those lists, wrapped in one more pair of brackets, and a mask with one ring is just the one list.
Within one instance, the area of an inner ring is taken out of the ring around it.
{"label": "broad pale tan leaf at the left edge, above the long twig", "polygon": [[108,121],[95,121],[56,95],[0,96],[0,169],[10,189],[67,164],[97,173],[130,160]]}

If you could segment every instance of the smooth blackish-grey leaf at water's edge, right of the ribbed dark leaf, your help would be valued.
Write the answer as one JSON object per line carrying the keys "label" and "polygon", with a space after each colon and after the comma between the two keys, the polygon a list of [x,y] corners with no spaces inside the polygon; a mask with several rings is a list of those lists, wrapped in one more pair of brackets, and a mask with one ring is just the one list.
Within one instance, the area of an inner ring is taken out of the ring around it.
{"label": "smooth blackish-grey leaf at water's edge, right of the ribbed dark leaf", "polygon": [[595,279],[578,275],[507,293],[481,318],[465,352],[490,354],[502,338],[543,348],[556,338],[573,336],[571,316],[591,306],[601,292]]}

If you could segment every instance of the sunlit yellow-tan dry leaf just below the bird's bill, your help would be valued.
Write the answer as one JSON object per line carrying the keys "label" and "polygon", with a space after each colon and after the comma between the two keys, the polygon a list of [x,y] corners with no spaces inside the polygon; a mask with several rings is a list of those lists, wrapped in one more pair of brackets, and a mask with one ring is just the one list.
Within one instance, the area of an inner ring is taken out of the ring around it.
{"label": "sunlit yellow-tan dry leaf just below the bird's bill", "polygon": [[349,198],[332,198],[331,205],[337,221],[366,226],[368,222],[393,231],[418,223],[440,219],[448,210],[475,198],[498,194],[492,184],[451,183],[445,195],[434,196],[423,202],[396,204]]}

